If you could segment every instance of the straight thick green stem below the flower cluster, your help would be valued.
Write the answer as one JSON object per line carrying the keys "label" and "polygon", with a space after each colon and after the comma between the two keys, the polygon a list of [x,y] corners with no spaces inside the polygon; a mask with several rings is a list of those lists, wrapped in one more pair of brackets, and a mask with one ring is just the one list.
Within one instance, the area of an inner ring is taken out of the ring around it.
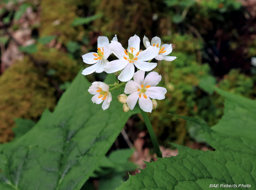
{"label": "straight thick green stem below the flower cluster", "polygon": [[148,114],[146,112],[144,112],[141,108],[140,108],[140,112],[141,112],[142,117],[143,117],[143,119],[145,121],[145,124],[147,126],[150,138],[152,140],[153,146],[154,146],[155,151],[156,151],[156,156],[159,157],[159,158],[163,158],[162,152],[161,152],[161,150],[159,148],[159,144],[158,144],[157,139],[156,139],[155,132],[154,132],[153,127],[152,127],[152,125],[150,123]]}

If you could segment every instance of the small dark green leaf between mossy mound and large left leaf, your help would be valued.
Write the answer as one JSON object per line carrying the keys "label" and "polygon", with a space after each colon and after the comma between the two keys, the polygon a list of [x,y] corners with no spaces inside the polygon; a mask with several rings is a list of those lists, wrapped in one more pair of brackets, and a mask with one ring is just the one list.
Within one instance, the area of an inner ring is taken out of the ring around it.
{"label": "small dark green leaf between mossy mound and large left leaf", "polygon": [[17,127],[14,127],[12,131],[14,132],[14,135],[16,138],[21,137],[26,132],[28,132],[36,122],[28,120],[28,119],[14,119]]}

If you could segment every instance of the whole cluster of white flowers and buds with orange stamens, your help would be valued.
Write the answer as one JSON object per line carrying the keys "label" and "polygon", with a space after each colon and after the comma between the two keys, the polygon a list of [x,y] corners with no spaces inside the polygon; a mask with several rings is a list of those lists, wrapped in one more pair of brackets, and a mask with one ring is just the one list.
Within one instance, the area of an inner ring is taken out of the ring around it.
{"label": "whole cluster of white flowers and buds with orange stamens", "polygon": [[[154,37],[151,44],[146,36],[143,38],[143,44],[146,50],[140,50],[140,38],[136,35],[128,40],[128,48],[124,49],[115,36],[111,43],[105,36],[98,38],[98,51],[83,55],[83,61],[87,64],[94,64],[83,70],[83,75],[89,75],[93,72],[106,73],[119,72],[117,77],[120,84],[105,84],[94,82],[89,88],[89,93],[93,94],[92,102],[102,104],[103,110],[107,109],[112,100],[111,90],[125,85],[124,93],[117,96],[119,102],[123,103],[123,111],[132,110],[139,99],[139,106],[145,112],[151,112],[158,107],[155,99],[164,99],[167,92],[164,87],[156,85],[161,81],[161,75],[156,72],[150,72],[145,77],[145,71],[151,71],[156,67],[156,63],[151,63],[152,59],[172,61],[176,57],[168,56],[172,52],[172,44],[161,45],[161,39]],[[118,59],[108,61],[109,55],[113,53]],[[147,62],[148,61],[148,62]],[[135,67],[137,72],[134,73]],[[144,78],[145,77],[145,78]],[[133,80],[131,80],[133,78]],[[114,86],[109,89],[109,86]],[[126,94],[130,94],[128,97]]]}

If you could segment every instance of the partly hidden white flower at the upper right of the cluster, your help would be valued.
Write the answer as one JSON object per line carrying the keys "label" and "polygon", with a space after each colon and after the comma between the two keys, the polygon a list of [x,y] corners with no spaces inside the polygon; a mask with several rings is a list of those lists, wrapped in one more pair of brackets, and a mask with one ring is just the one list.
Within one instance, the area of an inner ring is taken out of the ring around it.
{"label": "partly hidden white flower at the upper right of the cluster", "polygon": [[151,40],[151,44],[146,36],[143,38],[143,44],[148,49],[149,47],[156,46],[158,48],[158,55],[155,57],[156,60],[166,60],[173,61],[177,57],[167,56],[172,52],[172,44],[164,44],[161,46],[161,39],[157,36],[153,37]]}

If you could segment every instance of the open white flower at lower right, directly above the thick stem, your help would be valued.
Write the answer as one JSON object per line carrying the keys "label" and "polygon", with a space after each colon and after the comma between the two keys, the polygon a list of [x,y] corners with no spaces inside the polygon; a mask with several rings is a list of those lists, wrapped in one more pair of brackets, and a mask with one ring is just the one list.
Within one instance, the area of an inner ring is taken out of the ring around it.
{"label": "open white flower at lower right, directly above the thick stem", "polygon": [[127,104],[132,110],[139,99],[140,108],[145,112],[153,109],[152,99],[164,99],[167,90],[164,87],[156,86],[162,79],[161,75],[156,72],[150,72],[144,79],[145,71],[134,73],[133,80],[125,84],[124,93],[130,94],[127,97]]}

